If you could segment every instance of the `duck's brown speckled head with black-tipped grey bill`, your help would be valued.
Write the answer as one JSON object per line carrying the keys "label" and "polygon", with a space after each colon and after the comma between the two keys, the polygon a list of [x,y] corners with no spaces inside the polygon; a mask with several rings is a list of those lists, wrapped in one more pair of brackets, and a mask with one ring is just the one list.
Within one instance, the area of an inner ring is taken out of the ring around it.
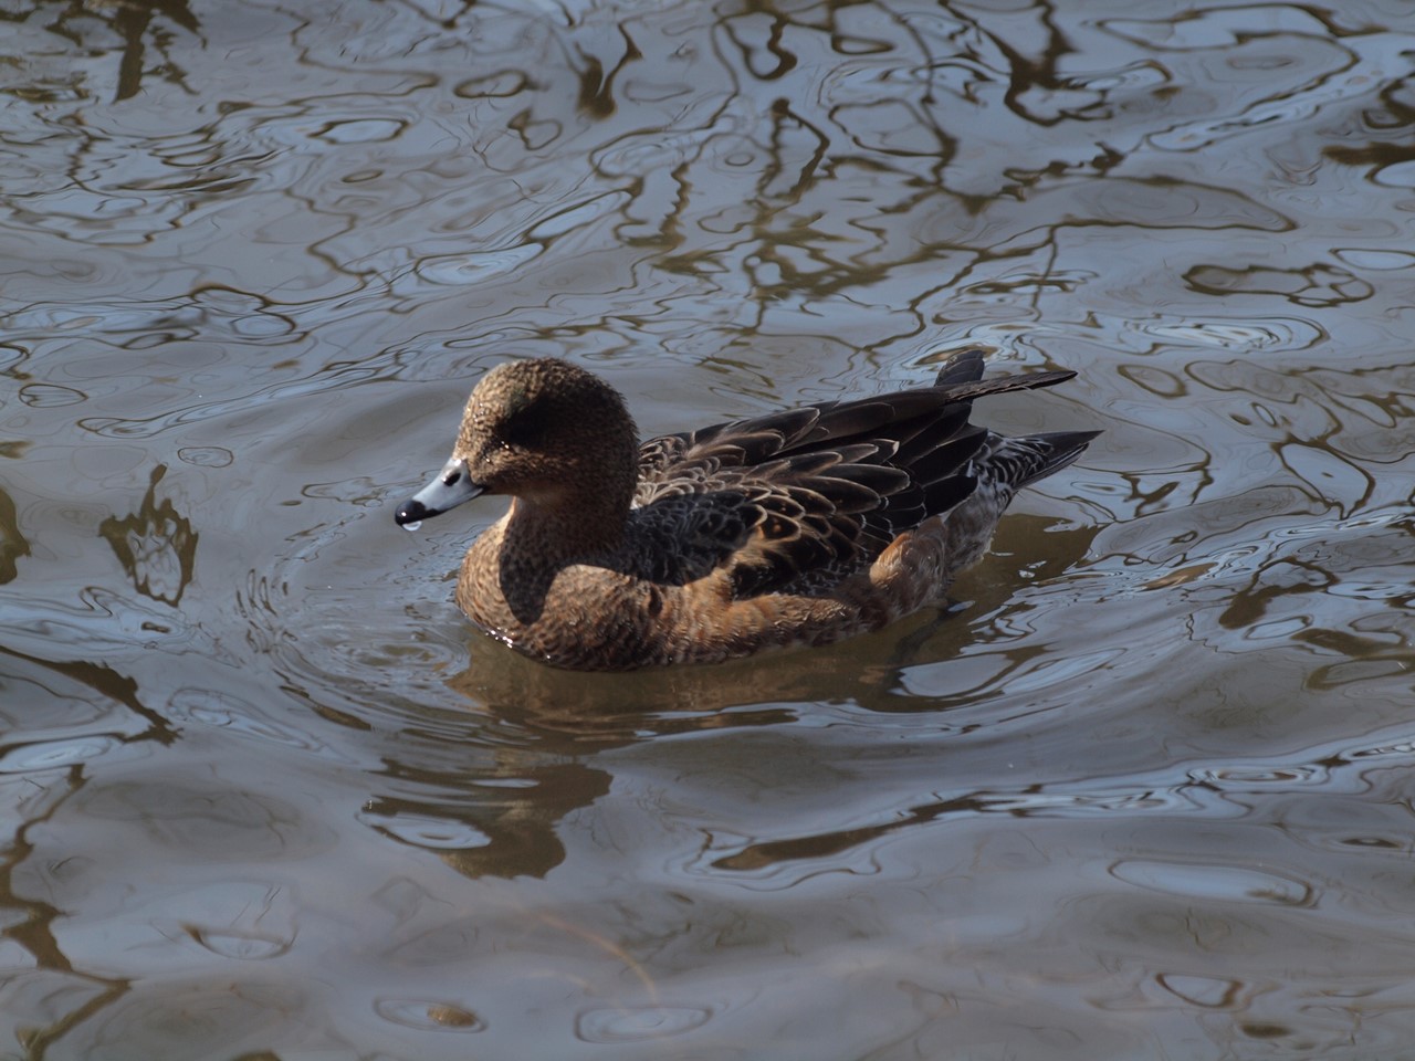
{"label": "duck's brown speckled head with black-tipped grey bill", "polygon": [[627,511],[637,454],[624,399],[603,379],[558,358],[507,362],[477,383],[451,460],[395,519],[409,526],[480,494]]}

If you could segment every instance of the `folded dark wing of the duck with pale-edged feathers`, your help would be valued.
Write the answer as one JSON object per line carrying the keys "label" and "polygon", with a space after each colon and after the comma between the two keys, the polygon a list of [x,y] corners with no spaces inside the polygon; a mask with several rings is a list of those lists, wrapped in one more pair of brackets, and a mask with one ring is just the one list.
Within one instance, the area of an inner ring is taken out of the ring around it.
{"label": "folded dark wing of the duck with pale-edged feathers", "polygon": [[645,574],[682,584],[726,567],[741,598],[824,590],[860,570],[976,489],[974,458],[996,436],[968,423],[975,398],[1073,375],[981,373],[968,351],[930,388],[651,439],[631,518],[655,567]]}

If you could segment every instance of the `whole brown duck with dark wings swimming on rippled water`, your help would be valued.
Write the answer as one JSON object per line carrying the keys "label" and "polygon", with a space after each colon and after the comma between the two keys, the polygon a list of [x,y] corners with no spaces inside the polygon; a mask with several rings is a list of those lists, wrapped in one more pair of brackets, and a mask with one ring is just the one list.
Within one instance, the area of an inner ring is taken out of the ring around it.
{"label": "whole brown duck with dark wings swimming on rippled water", "polygon": [[467,549],[457,604],[559,668],[634,671],[819,647],[947,604],[1023,487],[1099,431],[1009,437],[989,395],[1075,373],[983,379],[949,356],[931,386],[819,402],[640,443],[624,398],[559,358],[508,361],[467,402],[451,458],[395,519],[511,498]]}

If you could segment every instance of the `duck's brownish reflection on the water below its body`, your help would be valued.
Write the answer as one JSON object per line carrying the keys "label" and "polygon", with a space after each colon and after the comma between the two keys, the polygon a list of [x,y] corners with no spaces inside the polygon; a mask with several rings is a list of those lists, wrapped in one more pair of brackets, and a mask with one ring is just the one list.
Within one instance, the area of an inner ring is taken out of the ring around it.
{"label": "duck's brownish reflection on the water below its body", "polygon": [[[1024,553],[1034,577],[1060,574],[1085,556],[1094,532],[1044,533],[1053,522],[1027,515],[1003,521],[1000,552]],[[369,801],[366,821],[434,850],[468,877],[543,877],[566,857],[558,835],[563,819],[608,792],[616,771],[608,753],[708,730],[780,730],[808,721],[826,705],[947,712],[947,699],[913,697],[901,678],[914,665],[937,663],[972,644],[979,628],[969,615],[1007,607],[1023,584],[1019,563],[1009,556],[990,562],[996,570],[988,563],[965,583],[972,600],[954,610],[923,613],[828,649],[713,666],[579,673],[477,635],[470,665],[447,682],[467,699],[470,716],[460,726],[439,716],[420,734],[405,730],[402,737],[413,741],[385,755],[389,784]],[[832,654],[829,665],[822,652]],[[959,697],[976,700],[976,689]],[[730,753],[734,768],[770,775],[770,753],[740,744]],[[790,856],[784,850],[782,857]]]}

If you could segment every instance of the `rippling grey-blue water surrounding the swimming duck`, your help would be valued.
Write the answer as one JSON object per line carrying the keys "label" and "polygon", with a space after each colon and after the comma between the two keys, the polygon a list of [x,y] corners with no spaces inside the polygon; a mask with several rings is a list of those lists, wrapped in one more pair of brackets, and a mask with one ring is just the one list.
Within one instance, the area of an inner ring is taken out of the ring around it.
{"label": "rippling grey-blue water surrounding the swimming duck", "polygon": [[[0,1057],[1415,1036],[1398,3],[0,8]],[[508,354],[645,433],[1104,429],[942,614],[567,675],[415,535]]]}

